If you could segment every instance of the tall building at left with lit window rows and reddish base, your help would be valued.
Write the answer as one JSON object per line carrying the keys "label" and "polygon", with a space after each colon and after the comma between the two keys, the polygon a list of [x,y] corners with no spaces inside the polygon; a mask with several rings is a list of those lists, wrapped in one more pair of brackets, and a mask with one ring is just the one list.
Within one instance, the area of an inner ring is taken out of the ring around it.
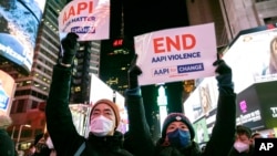
{"label": "tall building at left with lit window rows and reddish base", "polygon": [[58,15],[64,4],[64,0],[47,1],[37,35],[30,74],[18,71],[11,62],[0,61],[0,69],[9,73],[17,82],[10,112],[13,125],[9,132],[16,142],[22,143],[19,149],[28,148],[34,136],[43,133],[45,128],[43,103],[49,93],[52,66],[58,60],[60,48]]}

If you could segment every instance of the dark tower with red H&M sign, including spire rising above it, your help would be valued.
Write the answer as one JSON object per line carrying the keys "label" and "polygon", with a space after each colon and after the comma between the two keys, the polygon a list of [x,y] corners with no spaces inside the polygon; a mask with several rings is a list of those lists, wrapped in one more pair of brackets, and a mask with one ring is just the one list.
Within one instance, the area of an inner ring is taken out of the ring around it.
{"label": "dark tower with red H&M sign, including spire rising above it", "polygon": [[[100,79],[123,94],[127,87],[126,70],[133,42],[124,34],[122,1],[111,1],[110,39],[101,41]],[[132,38],[131,38],[132,39]]]}

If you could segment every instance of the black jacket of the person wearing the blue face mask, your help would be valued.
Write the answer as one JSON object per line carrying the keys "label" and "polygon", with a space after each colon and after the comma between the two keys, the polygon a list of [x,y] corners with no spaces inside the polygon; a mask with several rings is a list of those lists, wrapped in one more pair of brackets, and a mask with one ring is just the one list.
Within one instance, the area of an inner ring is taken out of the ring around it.
{"label": "black jacket of the person wearing the blue face mask", "polygon": [[216,122],[204,153],[195,143],[182,150],[155,145],[151,141],[142,96],[135,90],[127,90],[125,98],[130,119],[129,137],[132,137],[132,142],[126,139],[125,144],[137,156],[227,156],[234,144],[236,94],[233,89],[219,87]]}

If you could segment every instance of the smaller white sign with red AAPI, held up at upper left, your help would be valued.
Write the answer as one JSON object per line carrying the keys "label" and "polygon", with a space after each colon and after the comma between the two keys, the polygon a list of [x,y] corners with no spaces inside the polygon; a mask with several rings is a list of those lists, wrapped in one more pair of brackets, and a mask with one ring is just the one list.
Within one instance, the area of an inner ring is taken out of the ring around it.
{"label": "smaller white sign with red AAPI, held up at upper left", "polygon": [[74,0],[59,15],[59,32],[63,37],[76,33],[79,41],[110,38],[110,0]]}

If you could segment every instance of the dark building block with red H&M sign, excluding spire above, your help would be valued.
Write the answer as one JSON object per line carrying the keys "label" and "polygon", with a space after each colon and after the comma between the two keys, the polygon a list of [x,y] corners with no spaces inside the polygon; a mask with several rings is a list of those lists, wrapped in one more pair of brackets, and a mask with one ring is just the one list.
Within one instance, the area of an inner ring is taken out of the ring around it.
{"label": "dark building block with red H&M sign, excluding spire above", "polygon": [[132,45],[127,38],[102,41],[100,77],[122,95],[127,89],[127,70],[134,54]]}

